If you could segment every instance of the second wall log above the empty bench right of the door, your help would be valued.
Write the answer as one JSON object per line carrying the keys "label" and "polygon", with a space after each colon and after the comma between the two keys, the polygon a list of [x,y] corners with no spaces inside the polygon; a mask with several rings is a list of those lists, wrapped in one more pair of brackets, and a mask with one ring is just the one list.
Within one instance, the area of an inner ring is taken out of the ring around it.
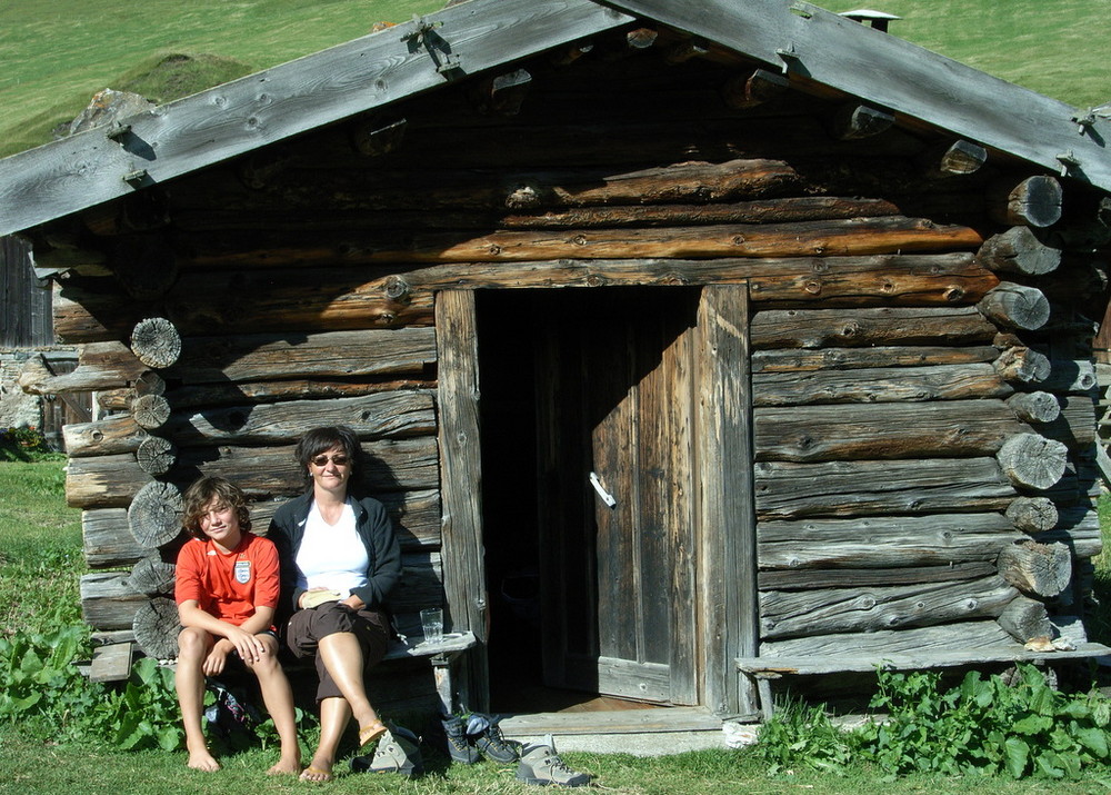
{"label": "second wall log above the empty bench right of the door", "polygon": [[857,633],[994,618],[1018,592],[1001,577],[837,590],[760,594],[763,638]]}

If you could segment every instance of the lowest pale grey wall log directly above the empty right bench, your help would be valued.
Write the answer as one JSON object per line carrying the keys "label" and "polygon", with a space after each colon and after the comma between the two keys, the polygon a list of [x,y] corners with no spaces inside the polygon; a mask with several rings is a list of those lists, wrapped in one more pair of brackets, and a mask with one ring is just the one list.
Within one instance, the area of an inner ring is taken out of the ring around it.
{"label": "lowest pale grey wall log directly above the empty right bench", "polygon": [[810,657],[817,662],[837,655],[874,655],[882,659],[889,655],[915,654],[929,658],[950,652],[973,656],[992,648],[1018,650],[1019,647],[994,620],[973,620],[934,627],[783,638],[761,643],[760,656],[774,665],[775,658],[785,657]]}

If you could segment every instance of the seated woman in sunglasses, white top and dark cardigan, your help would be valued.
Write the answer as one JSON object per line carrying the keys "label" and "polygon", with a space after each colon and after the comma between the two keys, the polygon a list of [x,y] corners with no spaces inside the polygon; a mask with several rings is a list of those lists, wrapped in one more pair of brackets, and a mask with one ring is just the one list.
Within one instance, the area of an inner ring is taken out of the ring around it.
{"label": "seated woman in sunglasses, white top and dark cardigan", "polygon": [[361,747],[386,732],[363,675],[386,654],[384,603],[401,577],[401,548],[382,504],[350,494],[360,453],[346,426],[306,434],[296,455],[310,488],[277,510],[268,534],[282,555],[282,597],[292,610],[287,643],[297,657],[316,659],[320,677],[320,745],[304,781],[331,781],[352,717]]}

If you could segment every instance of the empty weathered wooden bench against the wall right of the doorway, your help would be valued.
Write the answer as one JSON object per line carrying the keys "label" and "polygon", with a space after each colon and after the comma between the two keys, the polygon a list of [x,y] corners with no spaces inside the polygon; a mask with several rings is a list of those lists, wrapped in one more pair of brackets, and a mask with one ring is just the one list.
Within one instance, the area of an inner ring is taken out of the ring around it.
{"label": "empty weathered wooden bench against the wall right of the doorway", "polygon": [[822,674],[867,674],[884,670],[927,670],[965,665],[999,663],[1033,663],[1045,665],[1068,659],[1089,659],[1111,655],[1111,648],[1098,643],[1078,644],[1074,649],[1061,652],[1029,652],[1015,644],[1012,647],[975,649],[931,649],[922,653],[843,654],[805,657],[738,657],[737,670],[757,688],[760,713],[764,721],[774,714],[771,680],[783,676],[819,676]]}

